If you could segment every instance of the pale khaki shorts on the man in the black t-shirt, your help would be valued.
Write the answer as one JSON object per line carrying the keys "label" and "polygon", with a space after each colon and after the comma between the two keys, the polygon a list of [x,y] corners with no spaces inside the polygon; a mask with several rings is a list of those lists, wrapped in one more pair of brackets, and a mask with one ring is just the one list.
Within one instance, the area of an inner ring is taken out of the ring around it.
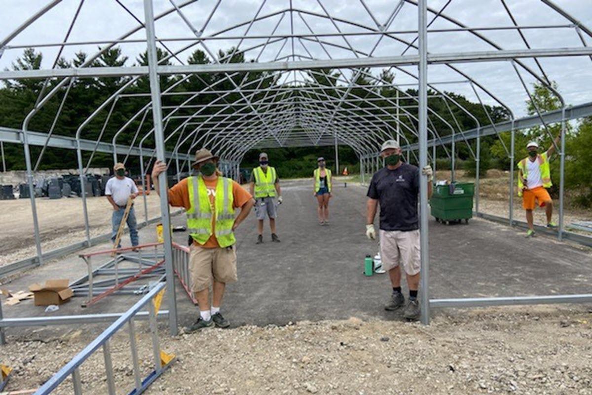
{"label": "pale khaki shorts on the man in the black t-shirt", "polygon": [[380,258],[382,268],[390,270],[403,263],[408,275],[419,273],[422,264],[419,255],[419,229],[380,230]]}

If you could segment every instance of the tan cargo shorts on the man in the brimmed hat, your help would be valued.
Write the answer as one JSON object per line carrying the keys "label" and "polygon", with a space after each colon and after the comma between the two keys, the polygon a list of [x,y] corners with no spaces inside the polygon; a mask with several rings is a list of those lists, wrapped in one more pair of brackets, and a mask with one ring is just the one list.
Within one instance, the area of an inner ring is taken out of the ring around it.
{"label": "tan cargo shorts on the man in the brimmed hat", "polygon": [[207,289],[212,280],[234,282],[236,275],[236,251],[231,248],[202,248],[192,243],[189,247],[189,274],[191,291]]}

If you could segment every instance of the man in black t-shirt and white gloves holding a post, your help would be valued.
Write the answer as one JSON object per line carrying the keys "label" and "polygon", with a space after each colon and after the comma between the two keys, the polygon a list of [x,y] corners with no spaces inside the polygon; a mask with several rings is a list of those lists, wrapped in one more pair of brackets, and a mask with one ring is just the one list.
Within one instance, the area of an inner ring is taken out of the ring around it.
{"label": "man in black t-shirt and white gloves holding a post", "polygon": [[[381,157],[385,168],[377,171],[368,187],[366,208],[366,236],[376,238],[374,217],[380,204],[380,255],[382,267],[388,271],[392,284],[392,295],[386,310],[397,310],[405,304],[401,293],[400,264],[407,277],[409,300],[403,316],[414,320],[419,317],[417,290],[420,276],[419,217],[417,197],[419,195],[419,169],[401,162],[401,148],[395,140],[382,144]],[[427,176],[427,194],[432,195],[432,167],[425,166],[422,174]]]}

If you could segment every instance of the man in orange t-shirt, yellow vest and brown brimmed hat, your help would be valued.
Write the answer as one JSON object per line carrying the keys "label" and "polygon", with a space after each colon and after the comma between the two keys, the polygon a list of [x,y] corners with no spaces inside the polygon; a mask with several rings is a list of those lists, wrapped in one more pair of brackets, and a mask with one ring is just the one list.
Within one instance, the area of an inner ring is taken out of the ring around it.
{"label": "man in orange t-shirt, yellow vest and brown brimmed hat", "polygon": [[[220,313],[220,305],[226,284],[237,280],[234,230],[255,204],[249,192],[222,176],[217,163],[218,157],[209,150],[198,150],[193,167],[199,174],[182,179],[168,191],[169,204],[185,208],[187,229],[193,239],[189,247],[189,274],[200,316],[185,328],[185,333],[212,326],[230,326],[229,320]],[[166,164],[157,160],[152,169],[157,193],[158,175],[162,172],[166,172]],[[238,215],[237,208],[240,208]],[[211,304],[210,286],[213,290]]]}

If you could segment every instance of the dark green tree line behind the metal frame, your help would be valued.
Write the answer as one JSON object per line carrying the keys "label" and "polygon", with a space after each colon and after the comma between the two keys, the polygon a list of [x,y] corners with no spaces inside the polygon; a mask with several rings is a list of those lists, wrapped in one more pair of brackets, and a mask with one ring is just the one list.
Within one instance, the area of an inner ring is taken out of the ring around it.
{"label": "dark green tree line behind the metal frame", "polygon": [[[160,64],[170,64],[173,58],[172,54],[158,49],[157,57]],[[244,54],[237,52],[235,48],[228,50],[220,50],[217,53],[218,61],[243,63],[252,62],[247,60]],[[56,67],[69,68],[78,67],[86,62],[88,54],[78,52],[73,59],[58,59]],[[181,59],[178,59],[181,60]],[[36,52],[34,49],[26,49],[22,55],[12,64],[14,70],[31,70],[39,69],[43,61],[43,53]],[[189,64],[208,64],[214,60],[204,53],[202,50],[195,50],[191,55],[184,60]],[[112,47],[105,50],[92,63],[94,67],[108,67],[108,66],[124,66],[124,65],[147,65],[146,52],[140,53],[136,59],[130,60],[124,56],[119,47]],[[383,124],[388,124],[391,130],[397,128],[397,121],[394,117],[395,111],[392,107],[392,102],[398,96],[398,103],[401,108],[407,108],[408,113],[413,115],[407,117],[405,112],[400,112],[401,130],[417,130],[417,120],[414,119],[417,115],[417,110],[414,106],[417,105],[417,91],[416,89],[407,89],[401,91],[394,88],[388,83],[395,79],[394,73],[383,70],[379,78],[372,78],[371,72],[367,68],[354,69],[349,76],[340,75],[332,69],[321,69],[316,71],[305,72],[307,81],[303,82],[305,86],[314,86],[316,94],[314,98],[337,99],[345,92],[343,84],[340,81],[343,78],[348,78],[349,81],[356,85],[350,89],[348,95],[348,108],[351,111],[348,117],[355,118],[359,115],[362,119],[367,111],[375,110],[377,107],[385,108],[381,113],[385,116]],[[380,84],[379,82],[382,82]],[[37,102],[37,98],[41,92],[47,94],[56,84],[57,79],[38,80],[38,79],[21,79],[15,81],[6,81],[0,87],[0,126],[12,127],[20,129],[22,121],[29,111],[31,111]],[[386,82],[387,84],[384,84]],[[265,92],[254,92],[256,89],[266,89],[276,86],[279,83],[278,79],[272,73],[268,72],[242,72],[233,73],[230,78],[224,73],[199,73],[191,76],[160,76],[160,88],[162,91],[170,88],[174,95],[162,95],[162,105],[164,115],[173,111],[176,108],[175,115],[179,118],[173,118],[168,121],[166,132],[175,130],[181,126],[183,118],[197,111],[196,105],[204,105],[215,101],[215,104],[210,108],[202,110],[200,115],[212,115],[215,113],[224,114],[228,116],[227,120],[238,120],[240,113],[236,111],[244,109],[243,104],[231,104],[242,99],[240,92],[237,92],[237,86],[246,86],[244,95],[248,95],[251,101],[262,100],[266,104],[274,104],[274,101],[279,101],[278,96],[268,97]],[[102,141],[110,142],[112,136],[130,120],[134,114],[137,114],[149,103],[150,86],[147,76],[141,76],[132,81],[131,77],[123,76],[117,78],[76,78],[72,79],[70,84],[66,84],[56,97],[47,102],[44,107],[31,119],[29,130],[47,132],[54,129],[54,133],[62,136],[75,136],[76,130],[83,120],[91,115],[95,109],[109,98],[114,92],[122,86],[129,84],[122,97],[115,102],[114,105],[107,106],[104,111],[101,111],[93,120],[85,127],[82,133],[84,139],[96,140],[101,136]],[[220,94],[200,94],[192,95],[190,92],[198,92],[214,86],[215,91],[224,91],[227,94],[220,98]],[[67,98],[63,101],[63,108],[61,115],[55,118],[55,115],[62,105],[62,99],[67,92]],[[301,92],[305,92],[302,90]],[[473,129],[475,121],[472,117],[466,114],[465,110],[454,105],[451,101],[445,101],[444,98],[436,95],[437,92],[429,91],[428,104],[430,107],[429,126],[440,134],[440,136],[447,136],[452,133],[449,125],[462,130]],[[310,95],[310,93],[301,93]],[[508,120],[509,113],[501,106],[482,105],[478,102],[469,101],[466,97],[456,94],[454,92],[445,92],[445,94],[458,102],[464,107],[473,117],[482,124],[489,124],[491,121],[498,123],[500,121]],[[390,102],[389,102],[390,101]],[[533,86],[533,101],[527,101],[526,110],[529,114],[536,114],[535,103],[541,111],[551,111],[559,108],[558,99],[556,99],[549,89],[542,85]],[[179,105],[184,104],[185,107],[178,108]],[[220,104],[220,105],[218,105]],[[228,105],[223,108],[221,105]],[[355,106],[355,107],[354,107]],[[108,123],[105,123],[108,112],[111,111],[111,116]],[[152,129],[152,116],[150,113],[144,117],[141,115],[134,118],[128,127],[121,131],[118,142],[122,144],[137,144],[139,139],[144,136],[150,129]],[[195,122],[199,123],[204,118],[195,118]],[[197,126],[192,126],[193,128]],[[561,126],[554,124],[549,126],[551,134],[556,134]],[[192,130],[188,127],[187,130]],[[204,127],[207,131],[207,126]],[[406,137],[410,143],[417,141],[413,133],[406,133]],[[516,155],[518,160],[526,156],[526,142],[529,140],[538,140],[542,146],[551,144],[551,137],[548,136],[542,127],[533,127],[528,130],[521,130],[516,133]],[[181,147],[181,152],[186,151],[191,143],[189,139]],[[487,169],[498,168],[509,170],[514,168],[509,162],[506,153],[509,147],[509,132],[501,131],[501,139],[497,136],[485,136],[481,139],[481,154],[480,154],[480,169],[481,175],[487,174]],[[403,140],[402,140],[403,141]],[[176,143],[176,138],[170,139],[166,149],[173,150]],[[403,142],[404,144],[405,142]],[[578,123],[568,124],[568,133],[566,140],[566,152],[570,160],[566,160],[566,187],[568,190],[575,191],[578,196],[578,202],[582,205],[592,204],[592,192],[590,185],[592,185],[592,172],[586,171],[585,166],[581,163],[588,163],[587,159],[592,159],[592,120],[590,118],[579,121]],[[475,142],[469,142],[472,150],[475,151]],[[148,137],[144,143],[147,147],[153,146],[152,137]],[[505,146],[505,147],[504,147]],[[448,147],[449,149],[449,147]],[[31,156],[37,158],[41,147],[31,147]],[[330,165],[334,162],[333,147],[294,147],[294,148],[280,148],[268,150],[270,159],[275,162],[276,169],[280,176],[287,178],[292,176],[310,176],[311,169],[316,166],[316,158],[324,156]],[[89,153],[83,154],[83,160],[89,157]],[[256,166],[258,150],[251,150],[244,158],[243,165],[246,167]],[[475,162],[472,158],[471,152],[465,142],[456,144],[456,158],[458,158],[459,166],[462,166],[469,172],[474,174]],[[445,151],[442,147],[437,148],[437,158],[446,158]],[[17,144],[5,144],[5,160],[8,170],[24,169],[24,155],[22,146]],[[130,167],[139,168],[137,158],[130,158]],[[555,184],[558,184],[558,160],[552,162],[554,166],[552,174],[554,174]],[[355,152],[350,147],[340,147],[340,164],[343,169],[348,166],[350,172],[358,170],[358,159]],[[448,159],[439,159],[438,168],[449,167]],[[44,153],[43,160],[40,163],[40,169],[57,169],[57,168],[77,168],[76,154],[73,150],[65,149],[48,149]],[[92,159],[92,167],[111,167],[111,155],[105,153],[97,153]]]}

